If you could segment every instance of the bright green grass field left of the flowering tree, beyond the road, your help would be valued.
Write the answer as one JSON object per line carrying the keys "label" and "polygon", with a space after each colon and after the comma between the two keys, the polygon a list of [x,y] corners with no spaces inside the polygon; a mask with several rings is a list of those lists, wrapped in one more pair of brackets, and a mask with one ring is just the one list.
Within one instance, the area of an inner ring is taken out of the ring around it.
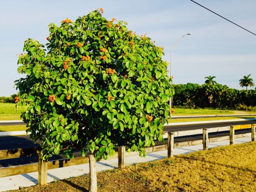
{"label": "bright green grass field left of the flowering tree, beyond the road", "polygon": [[0,120],[20,120],[22,107],[16,110],[15,103],[0,103]]}

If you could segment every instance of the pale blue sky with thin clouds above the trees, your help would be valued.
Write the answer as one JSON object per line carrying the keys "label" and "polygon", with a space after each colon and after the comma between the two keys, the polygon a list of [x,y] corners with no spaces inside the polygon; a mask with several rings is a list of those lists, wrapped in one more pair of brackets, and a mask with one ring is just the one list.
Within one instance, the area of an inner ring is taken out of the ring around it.
{"label": "pale blue sky with thin clouds above the trees", "polygon": [[[256,32],[255,0],[196,0],[244,28]],[[164,60],[173,49],[174,83],[204,83],[204,77],[241,89],[239,79],[251,74],[256,83],[256,36],[192,3],[190,0],[5,0],[0,6],[0,96],[17,91],[17,54],[23,42],[33,38],[47,43],[49,23],[60,25],[102,7],[107,19],[128,22],[128,29],[147,34],[163,46]],[[254,88],[253,88],[254,89]]]}

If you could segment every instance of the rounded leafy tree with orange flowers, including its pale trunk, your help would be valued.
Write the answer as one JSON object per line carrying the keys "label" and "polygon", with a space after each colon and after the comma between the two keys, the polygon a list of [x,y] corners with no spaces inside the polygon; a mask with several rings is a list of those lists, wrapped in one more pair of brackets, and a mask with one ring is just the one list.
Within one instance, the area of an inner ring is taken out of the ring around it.
{"label": "rounded leafy tree with orange flowers, including its pale trunk", "polygon": [[145,156],[143,147],[163,140],[173,95],[161,47],[101,13],[51,23],[47,50],[26,40],[18,59],[26,77],[15,81],[21,117],[41,141],[42,158],[88,154],[89,191],[96,191],[96,159],[114,155],[114,146]]}

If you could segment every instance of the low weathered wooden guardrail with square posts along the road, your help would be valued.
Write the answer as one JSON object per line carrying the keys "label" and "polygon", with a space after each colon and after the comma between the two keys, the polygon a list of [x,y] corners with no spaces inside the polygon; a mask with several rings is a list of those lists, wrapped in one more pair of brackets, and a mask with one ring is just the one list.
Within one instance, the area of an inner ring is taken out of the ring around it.
{"label": "low weathered wooden guardrail with square posts along the road", "polygon": [[[159,145],[159,146],[151,146],[144,148],[147,153],[150,152],[158,152],[167,149],[168,157],[173,157],[174,148],[184,147],[184,146],[193,146],[203,144],[203,149],[208,149],[208,143],[221,141],[221,140],[230,140],[230,144],[234,144],[235,138],[248,137],[250,136],[252,141],[256,140],[256,131],[255,125],[249,125],[251,132],[245,134],[235,135],[234,126],[225,126],[225,127],[215,127],[215,128],[207,128],[207,129],[194,129],[194,130],[186,130],[186,131],[177,131],[177,132],[167,132],[164,138],[168,138],[167,144]],[[215,138],[208,138],[208,134],[211,132],[223,132],[230,131],[228,136],[221,136]],[[192,141],[184,141],[179,143],[174,143],[175,137],[186,136],[186,135],[198,135],[203,134],[203,139],[200,140],[192,140]],[[50,160],[44,161],[41,159],[41,151],[40,148],[27,148],[27,149],[11,149],[11,150],[1,150],[0,151],[0,160],[3,159],[11,159],[11,158],[19,158],[25,156],[33,156],[38,155],[38,163],[30,163],[25,165],[18,166],[9,166],[0,168],[0,177],[7,177],[12,175],[20,175],[29,172],[37,172],[38,171],[38,184],[44,185],[47,183],[47,170],[48,169],[56,169],[66,166],[79,165],[84,163],[89,163],[89,158],[86,157],[76,157],[72,160],[70,159],[59,159],[59,160]],[[119,146],[118,151],[115,155],[109,156],[108,159],[118,158],[118,167],[123,168],[125,157],[137,155],[137,152],[126,152],[125,147]],[[100,161],[102,159],[99,159]]]}

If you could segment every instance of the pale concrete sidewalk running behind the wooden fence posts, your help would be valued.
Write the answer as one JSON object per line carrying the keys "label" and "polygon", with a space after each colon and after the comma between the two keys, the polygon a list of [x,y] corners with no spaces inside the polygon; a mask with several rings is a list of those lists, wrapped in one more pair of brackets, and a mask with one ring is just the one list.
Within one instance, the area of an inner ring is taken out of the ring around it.
{"label": "pale concrete sidewalk running behind the wooden fence posts", "polygon": [[[251,141],[250,137],[238,138],[238,139],[235,139],[235,144],[247,143],[250,141]],[[224,141],[209,143],[208,148],[229,145],[229,142],[230,142],[229,140],[224,140]],[[194,152],[202,149],[203,149],[203,145],[175,148],[174,155],[186,154],[189,152]],[[140,158],[139,155],[130,156],[125,158],[125,166],[134,165],[136,163],[159,160],[166,157],[167,157],[167,150],[148,153],[145,158]],[[111,160],[104,160],[96,163],[97,172],[105,171],[108,169],[116,169],[117,167],[118,167],[117,158],[111,159]],[[56,180],[58,181],[64,178],[75,177],[75,176],[84,175],[88,173],[89,173],[88,163],[82,164],[82,165],[63,167],[58,169],[49,169],[47,181],[49,183],[52,181],[56,181]],[[0,178],[0,191],[19,189],[19,187],[25,187],[25,186],[33,186],[35,184],[38,184],[37,179],[38,179],[38,172]]]}

